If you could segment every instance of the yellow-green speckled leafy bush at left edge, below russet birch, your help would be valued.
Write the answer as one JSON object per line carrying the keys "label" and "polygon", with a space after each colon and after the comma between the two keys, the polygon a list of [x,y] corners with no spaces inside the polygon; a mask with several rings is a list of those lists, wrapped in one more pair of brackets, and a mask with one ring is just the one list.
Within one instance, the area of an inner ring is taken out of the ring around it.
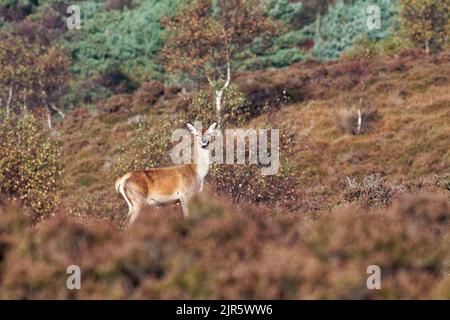
{"label": "yellow-green speckled leafy bush at left edge, below russet birch", "polygon": [[33,221],[52,215],[62,187],[61,146],[32,115],[0,122],[0,191],[20,199]]}

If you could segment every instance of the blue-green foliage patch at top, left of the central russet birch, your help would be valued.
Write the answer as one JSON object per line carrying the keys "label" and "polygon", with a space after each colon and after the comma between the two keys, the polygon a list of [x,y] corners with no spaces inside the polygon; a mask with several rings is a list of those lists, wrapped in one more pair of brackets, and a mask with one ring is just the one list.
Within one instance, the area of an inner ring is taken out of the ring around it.
{"label": "blue-green foliage patch at top, left of the central russet birch", "polygon": [[95,14],[85,17],[80,32],[69,38],[75,58],[73,71],[91,76],[116,69],[137,80],[160,78],[163,70],[155,59],[162,45],[160,19],[174,12],[177,3],[143,1],[138,8],[122,11],[82,4],[82,12]]}

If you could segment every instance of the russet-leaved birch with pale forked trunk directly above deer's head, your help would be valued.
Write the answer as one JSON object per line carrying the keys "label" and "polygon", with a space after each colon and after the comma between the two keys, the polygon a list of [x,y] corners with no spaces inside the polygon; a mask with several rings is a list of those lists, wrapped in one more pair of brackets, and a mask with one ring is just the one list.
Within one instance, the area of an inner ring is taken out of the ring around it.
{"label": "russet-leaved birch with pale forked trunk directly above deer's head", "polygon": [[210,86],[219,125],[223,95],[236,67],[233,62],[256,37],[276,35],[277,24],[263,9],[255,0],[195,0],[163,21],[167,32],[163,63],[172,73]]}

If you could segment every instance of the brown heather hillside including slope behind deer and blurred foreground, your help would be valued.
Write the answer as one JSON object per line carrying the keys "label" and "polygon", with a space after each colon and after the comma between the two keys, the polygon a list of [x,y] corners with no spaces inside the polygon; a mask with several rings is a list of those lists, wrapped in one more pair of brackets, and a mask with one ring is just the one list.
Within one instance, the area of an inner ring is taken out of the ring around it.
{"label": "brown heather hillside including slope behind deer and blurred foreground", "polygon": [[[59,214],[31,227],[22,207],[0,208],[0,298],[449,299],[449,75],[448,52],[413,51],[242,74],[245,126],[284,132],[283,174],[213,167],[189,219],[176,206],[147,210],[128,232],[117,228],[117,157],[168,163],[139,146],[167,153],[164,130],[195,119],[189,94],[79,108],[59,128]],[[82,290],[65,286],[72,264]],[[366,286],[370,265],[380,290]]]}

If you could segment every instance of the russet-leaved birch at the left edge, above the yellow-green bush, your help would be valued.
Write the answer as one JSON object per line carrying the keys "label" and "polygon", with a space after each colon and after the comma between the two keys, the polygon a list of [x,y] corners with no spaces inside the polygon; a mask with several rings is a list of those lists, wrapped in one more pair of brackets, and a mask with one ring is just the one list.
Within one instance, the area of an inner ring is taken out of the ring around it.
{"label": "russet-leaved birch at the left edge, above the yellow-green bush", "polygon": [[44,46],[22,37],[0,34],[0,100],[6,113],[43,110],[49,129],[68,80],[69,61],[59,46]]}

